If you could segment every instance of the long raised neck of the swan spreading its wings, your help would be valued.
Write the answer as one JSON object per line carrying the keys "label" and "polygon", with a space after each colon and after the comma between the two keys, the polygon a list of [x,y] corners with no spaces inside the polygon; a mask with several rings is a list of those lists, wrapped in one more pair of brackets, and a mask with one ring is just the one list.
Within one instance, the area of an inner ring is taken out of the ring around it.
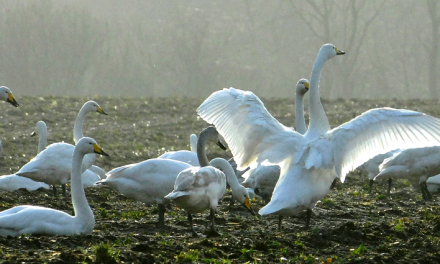
{"label": "long raised neck of the swan spreading its wings", "polygon": [[[322,51],[322,49],[321,49]],[[309,89],[309,129],[306,135],[316,137],[320,134],[330,130],[327,115],[321,104],[321,97],[319,94],[319,79],[321,77],[322,68],[327,60],[326,54],[318,53],[315,64],[313,65],[312,75],[310,77]]]}

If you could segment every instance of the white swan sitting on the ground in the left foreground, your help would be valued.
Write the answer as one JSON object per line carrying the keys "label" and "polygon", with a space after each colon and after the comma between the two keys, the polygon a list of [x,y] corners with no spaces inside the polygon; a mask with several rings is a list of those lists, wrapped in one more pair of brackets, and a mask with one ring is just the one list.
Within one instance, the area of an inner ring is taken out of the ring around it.
{"label": "white swan sitting on the ground in the left foreground", "polygon": [[82,159],[87,153],[108,156],[91,138],[82,138],[75,147],[72,161],[72,204],[74,216],[47,207],[21,205],[0,212],[0,235],[21,234],[85,235],[95,226],[95,217],[81,182]]}

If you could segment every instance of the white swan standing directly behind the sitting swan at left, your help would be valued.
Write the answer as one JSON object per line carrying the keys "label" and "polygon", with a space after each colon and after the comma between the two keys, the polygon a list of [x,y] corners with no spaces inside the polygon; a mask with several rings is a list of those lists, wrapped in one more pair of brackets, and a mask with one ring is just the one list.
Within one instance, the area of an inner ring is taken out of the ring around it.
{"label": "white swan standing directly behind the sitting swan at left", "polygon": [[[82,135],[82,124],[86,115],[90,112],[107,114],[98,103],[94,101],[86,102],[76,117],[74,135],[79,133]],[[65,183],[70,179],[73,150],[74,146],[68,143],[50,144],[15,174],[50,185],[62,184],[63,195],[66,196]],[[86,155],[83,159],[83,171],[90,168],[94,162],[95,154]],[[56,188],[54,188],[54,194],[56,195]]]}

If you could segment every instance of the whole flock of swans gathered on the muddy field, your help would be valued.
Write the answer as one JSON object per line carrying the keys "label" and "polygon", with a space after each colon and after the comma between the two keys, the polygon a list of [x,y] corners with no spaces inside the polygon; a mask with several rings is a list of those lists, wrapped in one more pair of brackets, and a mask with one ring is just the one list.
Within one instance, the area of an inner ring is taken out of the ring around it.
{"label": "whole flock of swans gathered on the muddy field", "polygon": [[[158,206],[159,226],[165,226],[167,203],[187,212],[190,231],[192,214],[209,210],[209,233],[217,235],[215,210],[230,186],[232,200],[255,214],[254,196],[266,201],[260,215],[278,215],[281,229],[284,216],[307,212],[331,190],[342,183],[350,171],[362,166],[373,180],[408,179],[420,186],[424,199],[430,199],[428,183],[439,184],[440,119],[404,109],[377,108],[331,129],[320,99],[319,79],[327,60],[345,52],[325,44],[315,60],[310,82],[296,85],[296,130],[278,122],[252,92],[235,88],[211,94],[197,114],[212,126],[199,136],[191,135],[191,151],[167,152],[157,158],[117,167],[108,172],[93,165],[95,154],[105,155],[97,142],[84,137],[85,116],[91,112],[106,114],[94,101],[80,109],[73,134],[75,145],[64,142],[47,145],[47,127],[36,124],[38,154],[14,175],[0,177],[0,190],[49,189],[57,195],[57,185],[67,196],[71,186],[74,215],[51,208],[21,205],[0,212],[0,235],[90,234],[95,218],[84,186],[106,186],[130,199]],[[303,99],[309,95],[309,126],[304,118]],[[18,106],[11,91],[0,87],[0,98]],[[205,147],[214,142],[231,150],[233,159],[209,161]],[[236,165],[236,167],[234,166]],[[249,169],[250,168],[250,169]],[[238,176],[241,175],[241,176]]]}

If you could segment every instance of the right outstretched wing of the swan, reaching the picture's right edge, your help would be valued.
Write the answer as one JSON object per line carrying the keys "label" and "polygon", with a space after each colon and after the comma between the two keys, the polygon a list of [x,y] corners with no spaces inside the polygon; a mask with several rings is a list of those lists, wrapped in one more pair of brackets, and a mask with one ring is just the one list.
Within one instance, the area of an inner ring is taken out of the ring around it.
{"label": "right outstretched wing of the swan, reaching the picture's right edge", "polygon": [[345,175],[365,161],[397,148],[440,145],[440,119],[393,108],[371,109],[329,131],[336,173]]}

